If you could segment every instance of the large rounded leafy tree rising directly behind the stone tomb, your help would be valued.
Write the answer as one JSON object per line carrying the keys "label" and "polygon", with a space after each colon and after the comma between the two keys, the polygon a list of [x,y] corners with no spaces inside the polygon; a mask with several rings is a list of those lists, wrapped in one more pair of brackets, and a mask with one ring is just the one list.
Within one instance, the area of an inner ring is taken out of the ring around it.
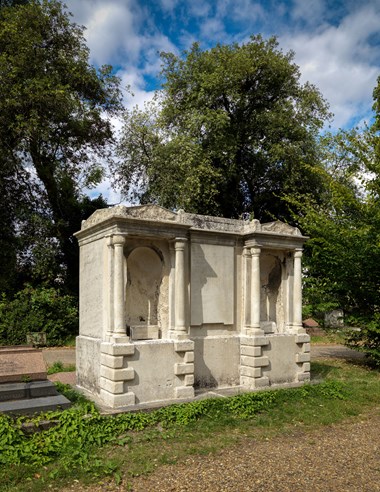
{"label": "large rounded leafy tree rising directly behind the stone tomb", "polygon": [[328,117],[318,90],[300,84],[293,53],[275,38],[183,57],[161,54],[162,91],[125,113],[116,183],[128,198],[168,208],[258,219],[289,218],[281,200],[318,190],[308,170]]}

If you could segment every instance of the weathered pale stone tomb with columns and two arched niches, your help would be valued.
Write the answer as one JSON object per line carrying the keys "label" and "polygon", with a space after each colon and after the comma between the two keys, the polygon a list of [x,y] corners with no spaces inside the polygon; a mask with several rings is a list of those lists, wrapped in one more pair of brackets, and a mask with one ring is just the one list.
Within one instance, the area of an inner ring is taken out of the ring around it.
{"label": "weathered pale stone tomb with columns and two arched niches", "polygon": [[119,205],[76,237],[77,383],[105,406],[309,380],[298,229]]}

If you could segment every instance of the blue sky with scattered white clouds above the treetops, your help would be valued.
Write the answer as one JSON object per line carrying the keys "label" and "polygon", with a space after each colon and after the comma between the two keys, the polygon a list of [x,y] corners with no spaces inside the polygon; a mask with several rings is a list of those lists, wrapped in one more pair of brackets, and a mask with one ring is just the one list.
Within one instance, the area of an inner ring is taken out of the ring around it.
{"label": "blue sky with scattered white clouds above the treetops", "polygon": [[[111,64],[142,106],[160,88],[162,51],[177,55],[254,34],[293,50],[301,82],[316,85],[334,114],[333,131],[370,121],[380,75],[380,0],[66,0],[86,27],[90,61]],[[116,194],[100,189],[110,200]]]}

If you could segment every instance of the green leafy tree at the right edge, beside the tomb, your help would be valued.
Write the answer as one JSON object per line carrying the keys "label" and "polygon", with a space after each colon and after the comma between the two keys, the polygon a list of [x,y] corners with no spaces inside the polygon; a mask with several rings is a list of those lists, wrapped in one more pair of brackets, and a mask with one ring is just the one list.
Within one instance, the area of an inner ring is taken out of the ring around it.
{"label": "green leafy tree at the right edge, beside the tomb", "polygon": [[322,137],[322,202],[289,196],[305,245],[308,315],[345,311],[348,344],[380,364],[380,160],[375,127]]}

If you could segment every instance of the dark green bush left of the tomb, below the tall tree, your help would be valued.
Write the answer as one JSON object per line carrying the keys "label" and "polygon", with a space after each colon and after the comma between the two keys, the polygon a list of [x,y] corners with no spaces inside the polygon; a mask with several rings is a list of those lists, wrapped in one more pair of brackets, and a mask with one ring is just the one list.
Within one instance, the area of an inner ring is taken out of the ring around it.
{"label": "dark green bush left of the tomb, below the tall tree", "polygon": [[30,332],[46,333],[47,345],[62,345],[78,333],[77,300],[47,287],[27,285],[13,299],[0,299],[0,344],[23,345]]}

